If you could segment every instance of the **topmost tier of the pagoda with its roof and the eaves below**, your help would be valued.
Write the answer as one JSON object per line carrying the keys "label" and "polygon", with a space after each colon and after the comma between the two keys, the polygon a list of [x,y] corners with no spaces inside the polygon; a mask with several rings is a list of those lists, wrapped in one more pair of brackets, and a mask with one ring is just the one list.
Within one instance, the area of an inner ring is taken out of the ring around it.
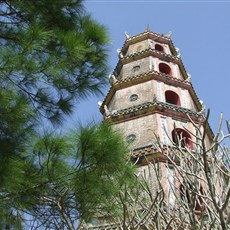
{"label": "topmost tier of the pagoda with its roof and the eaves below", "polygon": [[130,36],[125,32],[126,40],[122,48],[117,49],[119,60],[113,75],[119,79],[124,65],[152,56],[165,63],[171,62],[172,65],[178,65],[181,78],[187,79],[189,74],[182,62],[179,48],[174,47],[171,35],[172,32],[163,35],[151,32],[149,29],[135,36]]}

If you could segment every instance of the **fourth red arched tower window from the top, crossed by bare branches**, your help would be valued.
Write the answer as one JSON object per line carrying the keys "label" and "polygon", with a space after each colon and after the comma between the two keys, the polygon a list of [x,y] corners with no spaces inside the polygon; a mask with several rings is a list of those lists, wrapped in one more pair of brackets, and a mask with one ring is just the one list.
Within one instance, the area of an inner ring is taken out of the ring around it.
{"label": "fourth red arched tower window from the top, crossed by bare branches", "polygon": [[184,129],[176,128],[172,131],[172,140],[175,144],[193,149],[193,143],[190,134]]}

